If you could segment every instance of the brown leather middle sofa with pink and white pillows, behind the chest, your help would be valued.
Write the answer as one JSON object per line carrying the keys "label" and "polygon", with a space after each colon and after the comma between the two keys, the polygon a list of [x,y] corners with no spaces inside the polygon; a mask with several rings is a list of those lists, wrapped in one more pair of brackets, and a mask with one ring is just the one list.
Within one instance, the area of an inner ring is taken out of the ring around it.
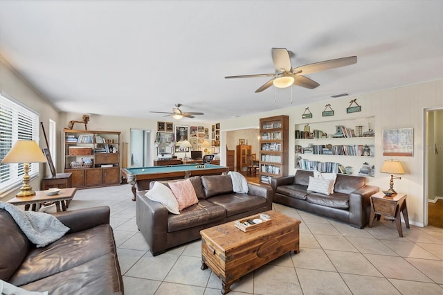
{"label": "brown leather middle sofa with pink and white pillows, behind the chest", "polygon": [[[202,229],[272,209],[269,186],[248,183],[248,193],[234,193],[230,175],[196,176],[190,180],[199,202],[183,209],[179,215],[169,213],[163,204],[145,197],[145,192],[137,193],[137,226],[153,256],[198,240]],[[153,184],[154,181],[150,188]]]}

